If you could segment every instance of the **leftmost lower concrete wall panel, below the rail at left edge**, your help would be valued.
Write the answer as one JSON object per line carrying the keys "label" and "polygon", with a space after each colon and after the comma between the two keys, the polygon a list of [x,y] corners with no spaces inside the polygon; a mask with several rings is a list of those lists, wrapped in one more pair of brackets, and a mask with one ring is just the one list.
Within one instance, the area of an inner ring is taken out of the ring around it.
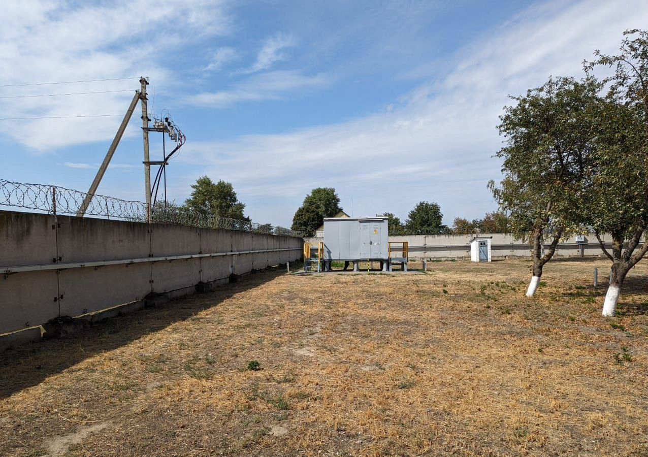
{"label": "leftmost lower concrete wall panel, below the rail at left edge", "polygon": [[0,277],[0,333],[40,325],[57,316],[56,270]]}

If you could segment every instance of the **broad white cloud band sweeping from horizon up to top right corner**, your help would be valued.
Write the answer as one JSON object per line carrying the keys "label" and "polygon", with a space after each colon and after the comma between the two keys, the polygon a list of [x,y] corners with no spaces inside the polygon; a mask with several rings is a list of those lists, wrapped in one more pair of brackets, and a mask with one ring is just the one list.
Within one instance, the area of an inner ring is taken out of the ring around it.
{"label": "broad white cloud band sweeping from horizon up to top right corner", "polygon": [[461,51],[448,75],[391,110],[286,134],[188,143],[180,160],[233,182],[255,220],[289,224],[319,185],[336,187],[347,208],[353,198],[365,215],[406,217],[430,200],[441,204],[446,223],[480,217],[494,209],[485,186],[500,174],[492,154],[501,145],[495,126],[507,95],[550,75],[578,75],[594,49],[614,53],[621,32],[646,17],[648,5],[638,0],[534,6]]}

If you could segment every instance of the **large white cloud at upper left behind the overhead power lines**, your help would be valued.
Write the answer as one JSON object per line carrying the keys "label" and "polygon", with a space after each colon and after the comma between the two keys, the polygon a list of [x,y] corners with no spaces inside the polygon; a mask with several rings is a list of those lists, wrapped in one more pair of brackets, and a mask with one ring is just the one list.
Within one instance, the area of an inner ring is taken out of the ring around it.
{"label": "large white cloud at upper left behind the overhead power lines", "polygon": [[[160,56],[187,41],[231,30],[231,18],[220,0],[172,0],[154,8],[145,0],[115,1],[110,6],[81,5],[64,0],[3,2],[3,85],[145,75],[156,84],[170,86],[173,78],[158,63]],[[63,92],[134,91],[139,83],[133,78],[61,86],[3,87],[0,95],[58,93],[61,88],[65,89]],[[130,99],[132,94],[128,93],[3,99],[0,110],[3,117],[120,114],[126,111]],[[37,152],[45,152],[108,141],[120,121],[119,117],[3,121],[0,132]]]}

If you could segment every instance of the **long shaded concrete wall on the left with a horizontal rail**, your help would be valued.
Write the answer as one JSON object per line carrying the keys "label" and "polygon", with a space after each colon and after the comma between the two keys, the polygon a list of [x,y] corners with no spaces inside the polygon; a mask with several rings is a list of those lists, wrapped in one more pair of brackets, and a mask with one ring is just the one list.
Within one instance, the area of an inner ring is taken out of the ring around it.
{"label": "long shaded concrete wall on the left with a horizontal rail", "polygon": [[297,237],[0,211],[0,334],[189,293],[302,249]]}

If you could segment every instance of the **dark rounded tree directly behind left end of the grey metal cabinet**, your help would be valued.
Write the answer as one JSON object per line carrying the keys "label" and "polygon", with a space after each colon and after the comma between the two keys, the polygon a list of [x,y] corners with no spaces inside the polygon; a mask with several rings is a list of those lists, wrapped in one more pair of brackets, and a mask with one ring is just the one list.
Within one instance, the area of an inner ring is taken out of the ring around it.
{"label": "dark rounded tree directly behind left end of the grey metal cabinet", "polygon": [[325,217],[334,217],[342,211],[340,197],[333,187],[317,187],[304,198],[292,218],[292,229],[306,237],[315,235],[315,231],[324,223]]}

